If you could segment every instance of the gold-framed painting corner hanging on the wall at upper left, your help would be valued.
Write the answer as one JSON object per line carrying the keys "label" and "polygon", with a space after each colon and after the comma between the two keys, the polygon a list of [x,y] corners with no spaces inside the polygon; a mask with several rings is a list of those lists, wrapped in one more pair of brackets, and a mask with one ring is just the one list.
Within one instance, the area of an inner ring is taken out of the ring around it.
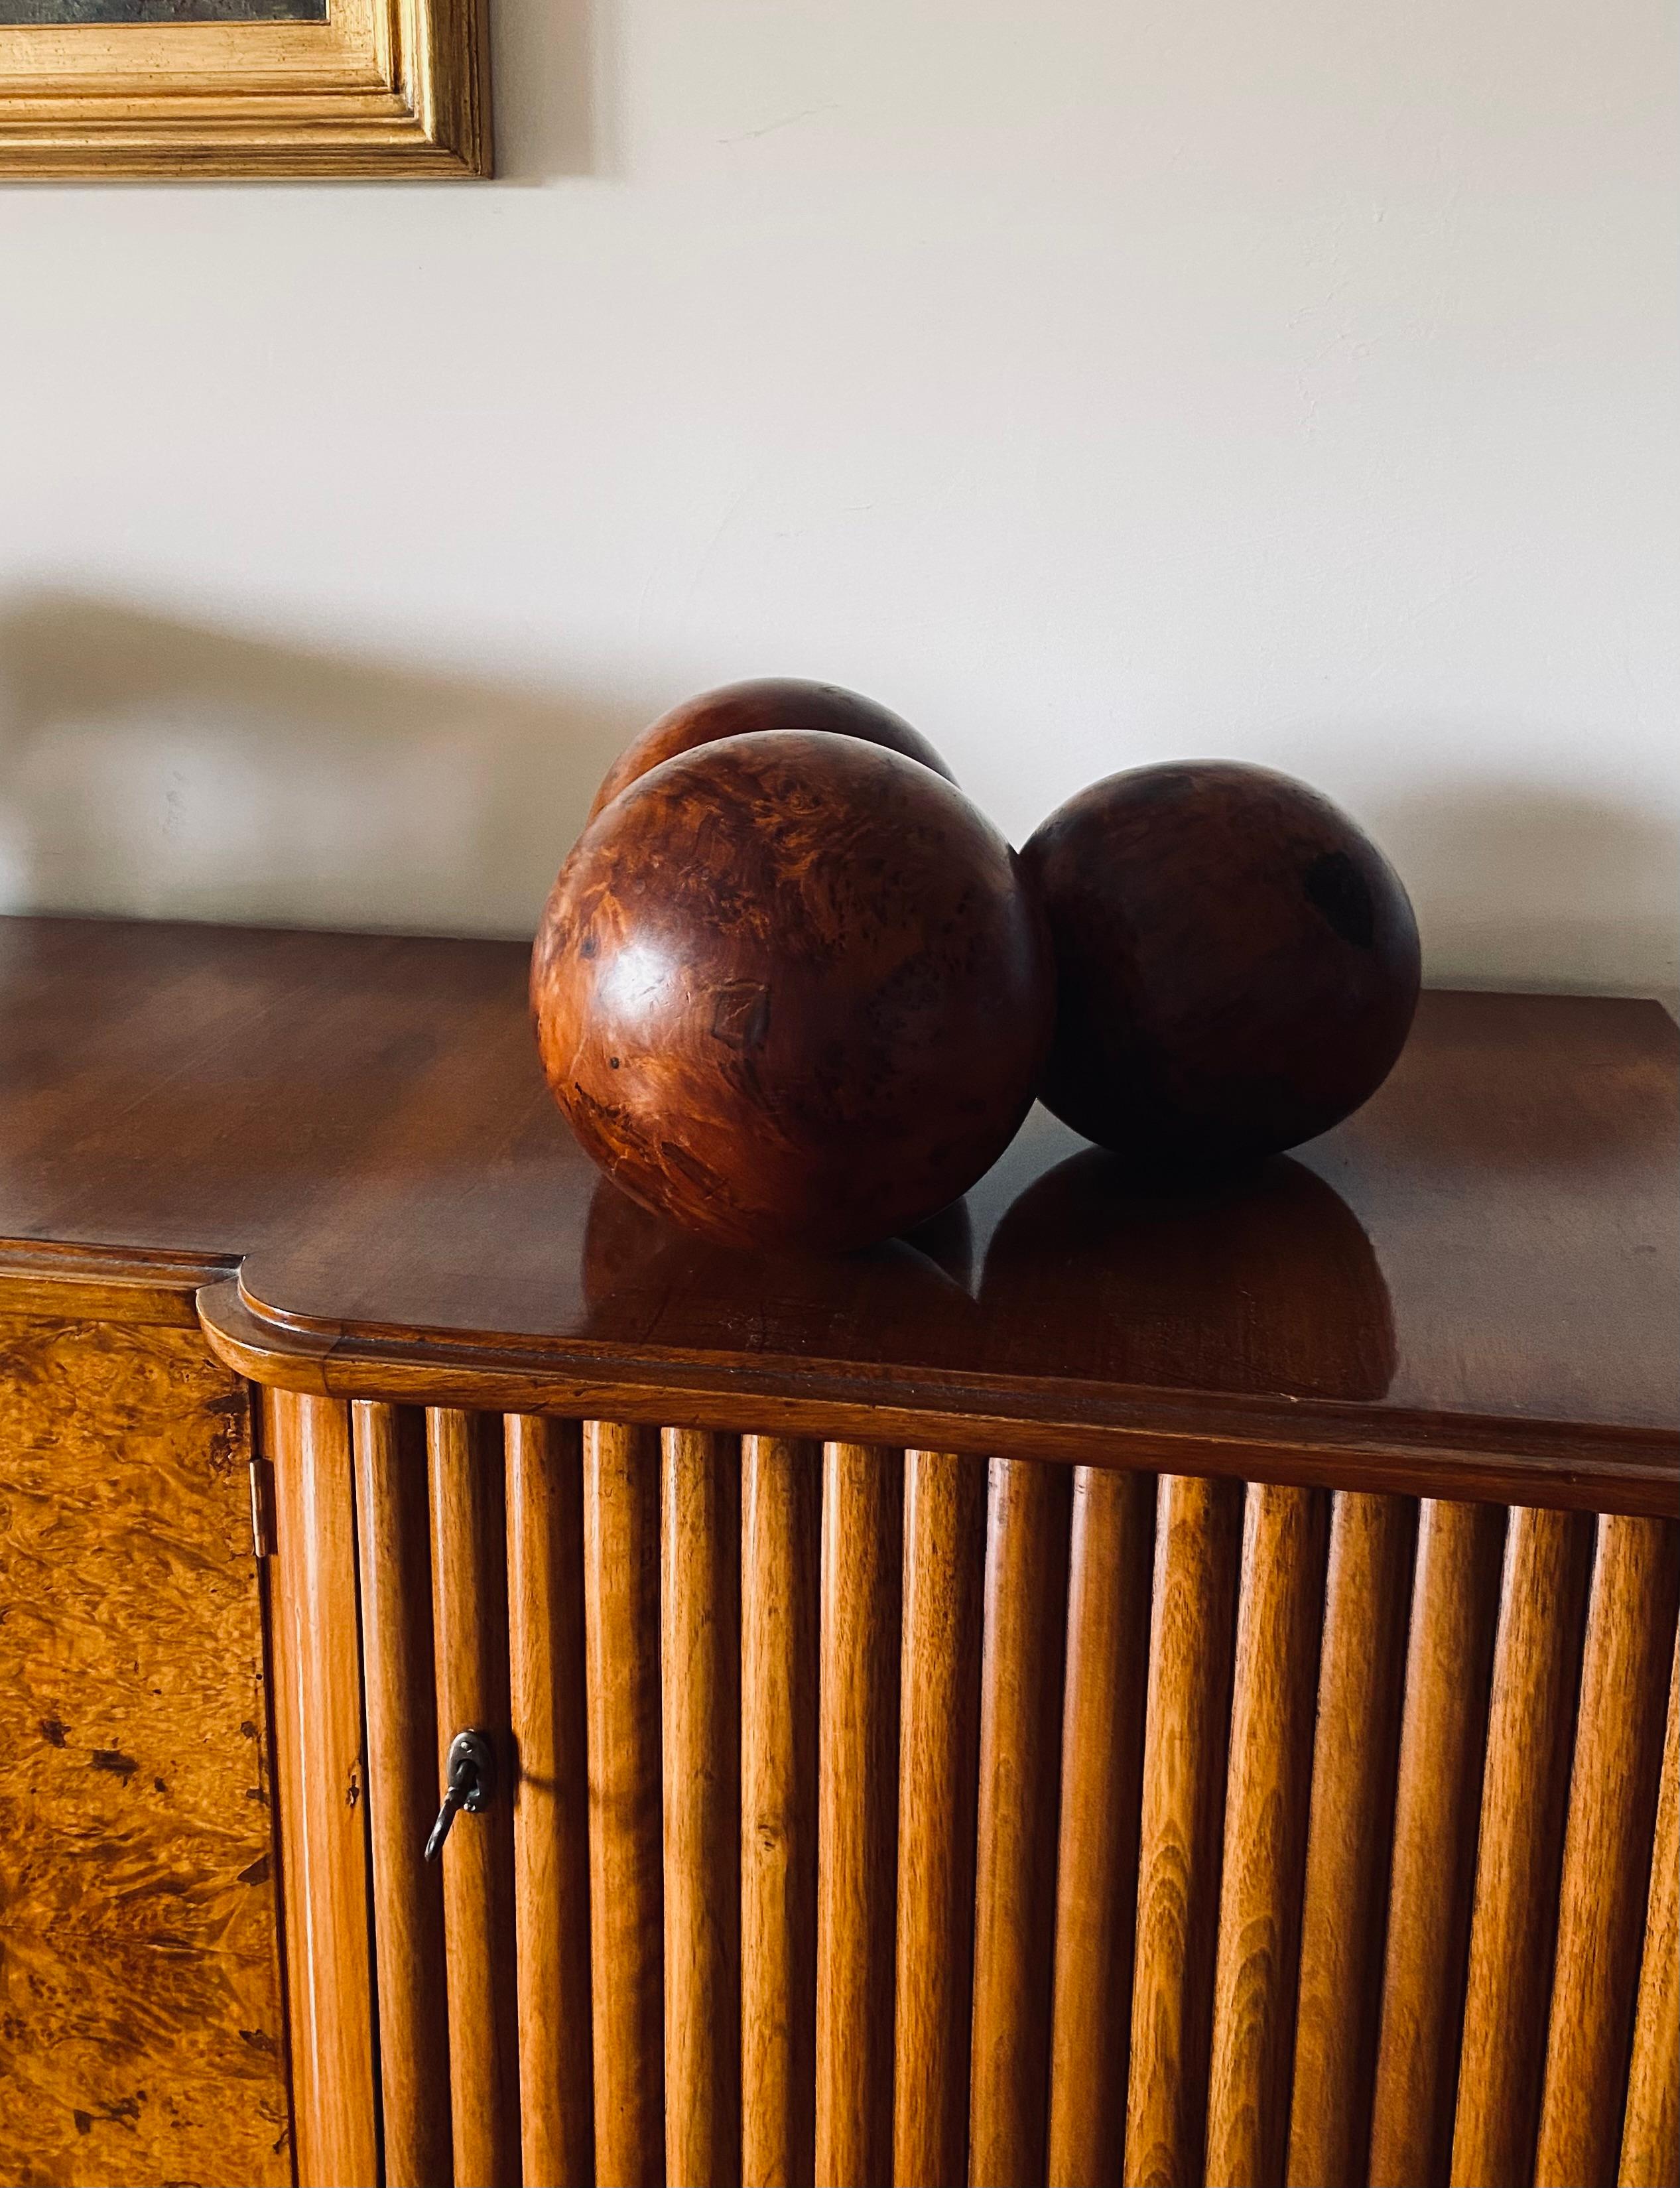
{"label": "gold-framed painting corner hanging on the wall at upper left", "polygon": [[0,179],[488,173],[486,0],[0,0]]}

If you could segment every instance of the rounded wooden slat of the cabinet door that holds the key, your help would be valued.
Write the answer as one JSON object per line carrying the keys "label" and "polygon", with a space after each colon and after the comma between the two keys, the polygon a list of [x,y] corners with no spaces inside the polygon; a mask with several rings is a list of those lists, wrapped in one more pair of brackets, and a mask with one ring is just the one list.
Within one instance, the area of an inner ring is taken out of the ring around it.
{"label": "rounded wooden slat of the cabinet door that holds the key", "polygon": [[455,2188],[518,2188],[514,1757],[508,1724],[508,1518],[501,1422],[427,1411],[438,1788],[455,1733],[483,1731],[497,1785],[442,1851]]}

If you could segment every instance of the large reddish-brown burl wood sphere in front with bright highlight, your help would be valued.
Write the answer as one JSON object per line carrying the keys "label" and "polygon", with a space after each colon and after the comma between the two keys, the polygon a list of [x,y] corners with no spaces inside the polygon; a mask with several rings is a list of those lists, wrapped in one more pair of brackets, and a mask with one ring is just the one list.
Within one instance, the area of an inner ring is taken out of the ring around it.
{"label": "large reddish-brown burl wood sphere in front with bright highlight", "polygon": [[805,731],[704,744],[584,829],[532,954],[542,1068],[612,1182],[746,1247],[965,1192],[1050,1039],[1043,919],[952,783]]}

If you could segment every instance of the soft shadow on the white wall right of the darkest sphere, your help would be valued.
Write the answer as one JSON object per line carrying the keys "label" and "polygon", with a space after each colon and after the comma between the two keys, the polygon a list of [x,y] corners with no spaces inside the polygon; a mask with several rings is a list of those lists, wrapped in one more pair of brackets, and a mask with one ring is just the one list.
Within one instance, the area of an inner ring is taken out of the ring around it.
{"label": "soft shadow on the white wall right of the darkest sphere", "polygon": [[1680,1015],[1671,818],[1488,781],[1378,807],[1369,827],[1418,906],[1431,987],[1656,996]]}

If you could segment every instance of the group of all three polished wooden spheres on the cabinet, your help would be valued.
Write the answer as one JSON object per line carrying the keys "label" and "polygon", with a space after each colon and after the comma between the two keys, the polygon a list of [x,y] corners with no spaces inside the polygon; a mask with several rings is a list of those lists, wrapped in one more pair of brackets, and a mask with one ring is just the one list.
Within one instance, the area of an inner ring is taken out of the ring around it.
{"label": "group of all three polished wooden spheres on the cabinet", "polygon": [[1317,790],[1133,768],[1013,851],[908,722],[790,680],[637,737],[532,954],[602,1171],[707,1238],[814,1252],[958,1199],[1035,1096],[1155,1175],[1278,1153],[1382,1083],[1415,1002],[1407,893]]}

